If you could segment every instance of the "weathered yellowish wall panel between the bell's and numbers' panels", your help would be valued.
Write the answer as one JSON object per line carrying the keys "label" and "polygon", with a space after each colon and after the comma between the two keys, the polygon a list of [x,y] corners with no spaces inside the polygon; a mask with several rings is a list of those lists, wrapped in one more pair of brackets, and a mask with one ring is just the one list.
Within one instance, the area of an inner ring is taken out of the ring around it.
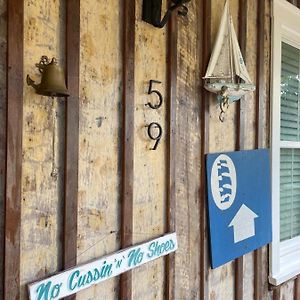
{"label": "weathered yellowish wall panel between the bell's and numbers' panels", "polygon": [[[120,248],[122,155],[121,1],[80,6],[80,111],[77,264]],[[105,37],[105,43],[103,42]],[[77,294],[116,299],[119,278]]]}

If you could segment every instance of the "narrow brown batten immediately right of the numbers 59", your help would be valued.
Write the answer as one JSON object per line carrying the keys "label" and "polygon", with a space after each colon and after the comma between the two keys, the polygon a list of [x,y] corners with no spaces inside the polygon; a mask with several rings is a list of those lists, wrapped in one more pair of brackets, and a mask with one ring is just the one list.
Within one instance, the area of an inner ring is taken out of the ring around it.
{"label": "narrow brown batten immediately right of the numbers 59", "polygon": [[[167,228],[169,232],[176,231],[176,92],[177,92],[177,41],[178,22],[177,16],[172,16],[168,24],[168,102],[167,118],[168,128],[168,156],[167,156]],[[175,253],[166,258],[166,297],[175,298]]]}

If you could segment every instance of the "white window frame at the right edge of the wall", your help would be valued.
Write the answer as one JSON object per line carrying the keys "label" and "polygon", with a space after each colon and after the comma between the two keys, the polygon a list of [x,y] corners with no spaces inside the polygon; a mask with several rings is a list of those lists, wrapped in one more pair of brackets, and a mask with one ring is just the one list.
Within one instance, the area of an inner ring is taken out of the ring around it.
{"label": "white window frame at the right edge of the wall", "polygon": [[280,141],[281,43],[300,49],[300,10],[285,0],[273,0],[271,157],[272,228],[269,281],[279,285],[300,274],[300,237],[280,242],[280,149],[300,148],[300,142]]}

